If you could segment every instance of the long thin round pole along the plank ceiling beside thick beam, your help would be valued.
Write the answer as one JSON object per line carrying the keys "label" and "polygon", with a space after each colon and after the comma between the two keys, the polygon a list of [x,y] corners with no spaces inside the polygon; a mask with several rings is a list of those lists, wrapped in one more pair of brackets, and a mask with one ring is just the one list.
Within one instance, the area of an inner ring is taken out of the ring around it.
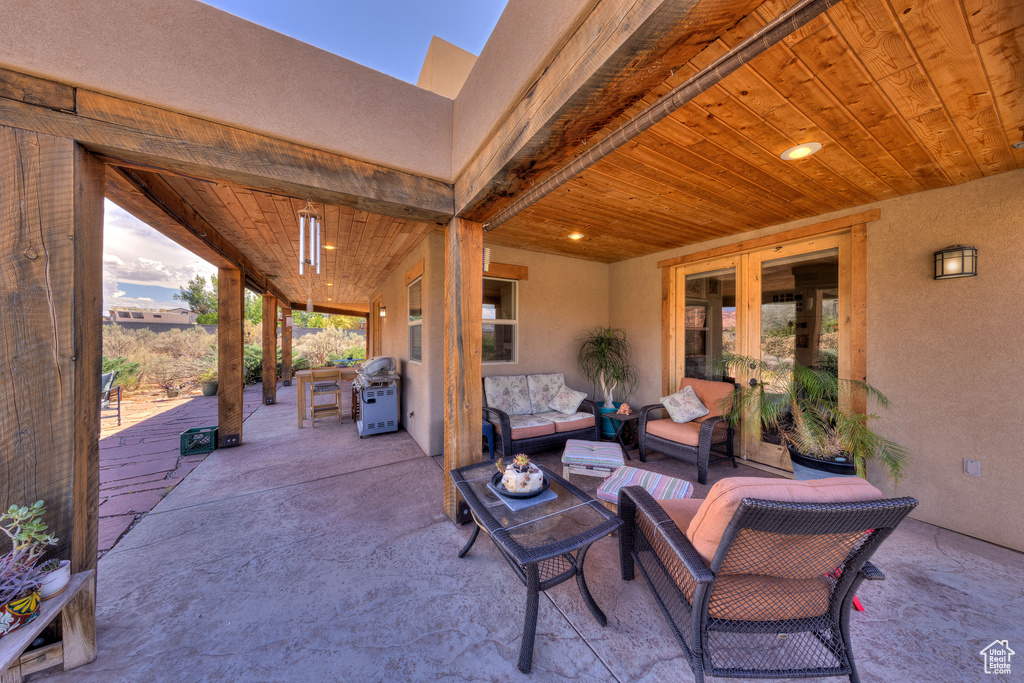
{"label": "long thin round pole along the plank ceiling beside thick beam", "polygon": [[[729,74],[763,54],[769,47],[806,26],[838,2],[840,0],[800,0],[754,35],[715,59],[687,81],[673,88],[657,101],[636,114],[561,168],[546,174],[543,179],[535,176],[534,186],[519,194],[510,205],[503,208],[497,215],[490,215],[484,229],[495,229],[547,197],[553,190],[667,118],[683,104],[710,90]],[[456,187],[458,196],[458,183]]]}

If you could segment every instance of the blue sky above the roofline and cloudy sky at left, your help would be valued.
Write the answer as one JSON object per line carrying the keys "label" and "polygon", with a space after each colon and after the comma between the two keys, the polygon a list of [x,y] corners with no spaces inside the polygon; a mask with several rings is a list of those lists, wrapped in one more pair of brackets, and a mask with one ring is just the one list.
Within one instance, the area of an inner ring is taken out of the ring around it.
{"label": "blue sky above the roofline and cloudy sky at left", "polygon": [[[479,54],[507,0],[210,0],[237,16],[416,83],[430,39]],[[105,203],[103,306],[173,308],[171,295],[216,268]]]}

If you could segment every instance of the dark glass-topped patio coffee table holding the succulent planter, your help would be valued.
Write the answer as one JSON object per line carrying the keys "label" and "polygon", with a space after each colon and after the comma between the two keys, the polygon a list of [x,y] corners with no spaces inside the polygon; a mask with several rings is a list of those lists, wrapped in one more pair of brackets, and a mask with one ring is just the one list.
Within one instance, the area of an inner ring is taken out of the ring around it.
{"label": "dark glass-topped patio coffee table holding the succulent planter", "polygon": [[526,587],[526,617],[519,646],[519,671],[529,673],[537,635],[540,592],[572,577],[580,594],[597,623],[606,626],[604,612],[594,602],[587,588],[583,563],[590,545],[620,526],[623,521],[600,503],[546,467],[555,500],[518,511],[510,510],[487,483],[498,471],[486,462],[452,470],[452,480],[473,513],[476,528],[466,546],[464,557],[482,528]]}

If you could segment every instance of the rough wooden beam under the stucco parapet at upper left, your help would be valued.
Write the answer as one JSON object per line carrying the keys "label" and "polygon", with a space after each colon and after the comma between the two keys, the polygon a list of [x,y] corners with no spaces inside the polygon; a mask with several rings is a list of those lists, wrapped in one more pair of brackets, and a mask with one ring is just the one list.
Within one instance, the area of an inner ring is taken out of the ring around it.
{"label": "rough wooden beam under the stucco parapet at upper left", "polygon": [[454,213],[440,180],[2,69],[0,124],[73,138],[136,170],[437,224]]}

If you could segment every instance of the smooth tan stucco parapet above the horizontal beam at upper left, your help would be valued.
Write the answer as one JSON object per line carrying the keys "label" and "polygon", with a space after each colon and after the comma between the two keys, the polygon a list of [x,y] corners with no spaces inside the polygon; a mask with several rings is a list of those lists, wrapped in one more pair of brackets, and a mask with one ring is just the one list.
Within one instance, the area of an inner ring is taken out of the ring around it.
{"label": "smooth tan stucco parapet above the horizontal beam at upper left", "polygon": [[451,99],[196,0],[14,0],[0,15],[6,69],[451,179]]}

